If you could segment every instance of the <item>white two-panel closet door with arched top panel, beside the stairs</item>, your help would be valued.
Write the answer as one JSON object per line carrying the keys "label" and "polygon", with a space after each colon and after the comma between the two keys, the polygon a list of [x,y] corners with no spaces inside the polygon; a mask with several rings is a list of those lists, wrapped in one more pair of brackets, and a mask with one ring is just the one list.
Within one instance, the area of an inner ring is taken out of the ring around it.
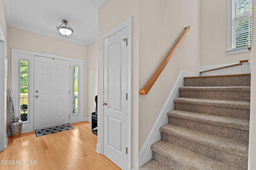
{"label": "white two-panel closet door with arched top panel, beside the stairs", "polygon": [[104,39],[104,155],[127,169],[128,28]]}

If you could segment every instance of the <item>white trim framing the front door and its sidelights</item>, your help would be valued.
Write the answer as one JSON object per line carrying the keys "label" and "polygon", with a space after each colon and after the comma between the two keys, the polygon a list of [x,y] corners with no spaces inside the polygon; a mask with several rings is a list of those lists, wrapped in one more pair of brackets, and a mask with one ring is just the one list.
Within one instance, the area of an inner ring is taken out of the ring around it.
{"label": "white trim framing the front door and its sidelights", "polygon": [[[21,57],[19,55],[22,55]],[[69,57],[61,57],[61,56],[56,56],[56,55],[49,55],[49,54],[44,54],[44,53],[36,53],[36,52],[32,52],[32,51],[24,51],[24,50],[19,50],[19,49],[11,49],[11,56],[12,56],[12,76],[11,76],[11,89],[12,92],[14,92],[14,94],[16,94],[16,99],[19,99],[19,89],[17,87],[19,87],[19,67],[18,67],[18,62],[20,59],[24,59],[24,60],[28,60],[30,62],[30,75],[29,75],[29,91],[31,91],[32,93],[29,94],[29,109],[30,109],[30,121],[28,123],[23,123],[22,126],[22,133],[25,132],[30,132],[34,130],[34,98],[33,98],[33,91],[34,91],[34,56],[41,56],[41,57],[48,57],[48,58],[55,58],[55,59],[61,59],[61,60],[68,60],[70,61],[70,66],[74,66],[74,65],[78,65],[81,68],[81,72],[83,72],[83,60],[80,59],[73,59],[73,58],[69,58]],[[25,58],[24,58],[24,57]],[[80,63],[80,64],[76,64],[76,63]],[[70,72],[70,74],[72,74],[72,71]],[[72,76],[72,75],[70,75]],[[80,76],[83,76],[83,74],[80,74]],[[78,86],[81,88],[80,92],[82,93],[82,95],[80,95],[80,102],[78,102],[78,104],[80,104],[81,108],[80,108],[80,121],[83,121],[83,78],[80,78],[81,81],[78,84]],[[70,87],[70,92],[72,92],[72,87]],[[72,116],[72,98],[70,98],[70,117]],[[80,107],[79,106],[79,107]],[[71,123],[71,122],[70,122]],[[74,123],[74,122],[72,122]]]}

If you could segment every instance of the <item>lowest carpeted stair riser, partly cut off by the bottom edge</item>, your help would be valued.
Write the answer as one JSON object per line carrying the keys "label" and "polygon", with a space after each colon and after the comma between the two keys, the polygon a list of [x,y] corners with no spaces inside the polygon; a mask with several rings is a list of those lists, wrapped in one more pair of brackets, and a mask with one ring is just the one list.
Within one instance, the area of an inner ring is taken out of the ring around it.
{"label": "lowest carpeted stair riser, partly cut off by the bottom edge", "polygon": [[189,168],[187,166],[184,166],[179,162],[176,162],[175,160],[163,156],[162,154],[159,154],[155,151],[152,151],[152,159],[160,162],[161,164],[164,164],[165,166],[170,167],[171,170],[195,170],[195,168]]}

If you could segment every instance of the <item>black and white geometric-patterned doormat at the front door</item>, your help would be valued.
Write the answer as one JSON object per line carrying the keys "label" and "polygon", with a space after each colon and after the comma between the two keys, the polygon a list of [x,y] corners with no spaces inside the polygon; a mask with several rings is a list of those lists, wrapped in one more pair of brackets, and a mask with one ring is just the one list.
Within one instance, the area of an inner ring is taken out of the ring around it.
{"label": "black and white geometric-patterned doormat at the front door", "polygon": [[45,129],[38,129],[38,130],[35,130],[35,133],[36,133],[36,137],[39,137],[39,136],[48,135],[56,132],[70,130],[70,129],[74,129],[74,127],[70,126],[69,124],[65,124],[65,125],[59,125],[55,127],[48,127]]}

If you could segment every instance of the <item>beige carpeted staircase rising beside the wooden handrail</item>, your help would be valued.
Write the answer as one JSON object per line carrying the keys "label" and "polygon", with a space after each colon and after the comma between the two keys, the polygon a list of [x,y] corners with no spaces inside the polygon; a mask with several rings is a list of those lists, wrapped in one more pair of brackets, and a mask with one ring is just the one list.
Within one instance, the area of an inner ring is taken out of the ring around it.
{"label": "beige carpeted staircase rising beside the wooden handrail", "polygon": [[140,170],[247,170],[250,74],[184,78]]}

